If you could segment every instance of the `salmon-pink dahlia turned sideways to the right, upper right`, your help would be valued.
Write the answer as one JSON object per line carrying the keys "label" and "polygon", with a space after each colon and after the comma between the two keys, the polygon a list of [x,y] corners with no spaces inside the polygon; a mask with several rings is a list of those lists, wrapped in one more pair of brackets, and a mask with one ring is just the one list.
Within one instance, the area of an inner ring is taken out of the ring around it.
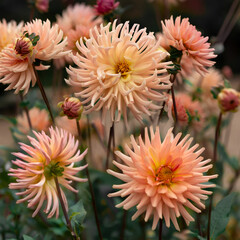
{"label": "salmon-pink dahlia turned sideways to the right, upper right", "polygon": [[[189,23],[188,18],[177,17],[174,23],[173,17],[162,21],[163,35],[162,46],[170,50],[170,46],[181,50],[183,59],[190,60],[193,68],[201,75],[207,72],[206,67],[213,66],[210,59],[216,57],[214,49],[210,48],[208,37],[203,37],[196,27]],[[185,64],[186,66],[186,64]]]}

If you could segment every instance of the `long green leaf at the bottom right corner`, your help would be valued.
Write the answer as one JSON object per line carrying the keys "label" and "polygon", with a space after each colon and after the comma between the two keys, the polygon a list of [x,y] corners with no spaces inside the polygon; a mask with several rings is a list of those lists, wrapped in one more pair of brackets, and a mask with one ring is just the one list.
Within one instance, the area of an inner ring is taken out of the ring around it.
{"label": "long green leaf at the bottom right corner", "polygon": [[235,197],[236,193],[229,194],[223,198],[213,210],[210,226],[210,238],[212,240],[224,232],[229,221],[229,214]]}

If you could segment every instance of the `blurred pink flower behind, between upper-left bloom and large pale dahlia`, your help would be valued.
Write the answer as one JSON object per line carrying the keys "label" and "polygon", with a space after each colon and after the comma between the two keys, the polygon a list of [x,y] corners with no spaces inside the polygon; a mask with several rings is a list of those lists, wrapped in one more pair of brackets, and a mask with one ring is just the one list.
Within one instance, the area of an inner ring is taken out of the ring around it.
{"label": "blurred pink flower behind, between upper-left bloom and large pale dahlia", "polygon": [[[76,54],[78,52],[76,42],[81,37],[89,38],[89,30],[99,26],[102,22],[102,18],[97,17],[94,8],[84,3],[76,3],[74,6],[67,7],[62,16],[57,15],[57,24],[64,36],[68,38],[66,50],[71,50],[73,54]],[[54,64],[60,68],[65,66],[65,62],[72,63],[72,59],[65,56],[55,60]]]}

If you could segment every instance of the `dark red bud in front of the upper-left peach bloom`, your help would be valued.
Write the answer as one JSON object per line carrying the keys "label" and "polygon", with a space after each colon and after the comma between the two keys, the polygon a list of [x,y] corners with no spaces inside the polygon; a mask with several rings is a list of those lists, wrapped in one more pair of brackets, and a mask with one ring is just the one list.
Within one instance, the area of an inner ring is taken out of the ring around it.
{"label": "dark red bud in front of the upper-left peach bloom", "polygon": [[15,51],[24,58],[27,57],[27,55],[32,56],[32,41],[28,37],[18,38],[15,45]]}

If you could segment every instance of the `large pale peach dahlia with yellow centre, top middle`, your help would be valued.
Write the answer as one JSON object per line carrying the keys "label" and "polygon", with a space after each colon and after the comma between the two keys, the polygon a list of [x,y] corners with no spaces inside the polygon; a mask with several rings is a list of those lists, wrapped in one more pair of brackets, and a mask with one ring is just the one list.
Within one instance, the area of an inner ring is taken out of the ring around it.
{"label": "large pale peach dahlia with yellow centre, top middle", "polygon": [[139,29],[129,23],[100,26],[90,30],[89,39],[80,39],[77,48],[81,55],[71,55],[75,67],[69,67],[72,86],[83,87],[76,93],[83,98],[85,113],[103,109],[103,119],[110,110],[112,121],[118,121],[123,113],[127,123],[127,107],[135,118],[142,120],[142,114],[150,115],[159,109],[153,101],[163,101],[158,90],[170,88],[167,72],[171,62],[161,62],[168,53],[160,50],[153,33]]}

